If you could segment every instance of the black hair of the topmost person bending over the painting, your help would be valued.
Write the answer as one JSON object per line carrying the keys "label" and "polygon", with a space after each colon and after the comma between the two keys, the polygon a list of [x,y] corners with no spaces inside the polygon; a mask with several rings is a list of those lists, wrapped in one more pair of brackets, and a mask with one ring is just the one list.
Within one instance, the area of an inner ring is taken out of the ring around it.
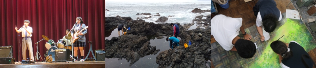
{"label": "black hair of the topmost person bending over the painting", "polygon": [[272,32],[276,29],[277,17],[273,14],[266,14],[262,19],[262,25],[264,26],[264,31]]}

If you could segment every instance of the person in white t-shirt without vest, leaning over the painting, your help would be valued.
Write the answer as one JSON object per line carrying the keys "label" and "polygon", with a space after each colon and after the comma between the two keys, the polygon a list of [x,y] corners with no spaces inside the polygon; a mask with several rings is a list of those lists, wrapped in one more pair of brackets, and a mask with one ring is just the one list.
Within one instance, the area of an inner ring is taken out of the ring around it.
{"label": "person in white t-shirt without vest, leaning over the painting", "polygon": [[[231,18],[219,14],[210,21],[211,35],[227,51],[237,51],[242,58],[252,58],[257,49],[255,44],[250,41],[248,35],[242,26],[242,18]],[[239,31],[245,39],[238,37]]]}

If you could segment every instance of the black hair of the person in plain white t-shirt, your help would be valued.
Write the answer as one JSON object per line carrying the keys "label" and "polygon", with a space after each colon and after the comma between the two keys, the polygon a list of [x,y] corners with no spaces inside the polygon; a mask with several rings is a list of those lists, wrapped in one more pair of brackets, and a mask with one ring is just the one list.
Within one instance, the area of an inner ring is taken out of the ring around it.
{"label": "black hair of the person in plain white t-shirt", "polygon": [[252,41],[246,39],[238,39],[235,43],[235,48],[239,56],[246,59],[252,58],[257,51],[256,45]]}

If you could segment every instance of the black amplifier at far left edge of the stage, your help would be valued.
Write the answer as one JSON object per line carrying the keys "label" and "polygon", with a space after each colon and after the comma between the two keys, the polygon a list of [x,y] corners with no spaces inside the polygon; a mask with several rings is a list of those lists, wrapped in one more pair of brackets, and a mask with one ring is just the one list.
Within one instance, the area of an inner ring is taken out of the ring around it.
{"label": "black amplifier at far left edge of the stage", "polygon": [[0,47],[0,58],[11,58],[12,57],[12,52],[10,46],[3,46]]}

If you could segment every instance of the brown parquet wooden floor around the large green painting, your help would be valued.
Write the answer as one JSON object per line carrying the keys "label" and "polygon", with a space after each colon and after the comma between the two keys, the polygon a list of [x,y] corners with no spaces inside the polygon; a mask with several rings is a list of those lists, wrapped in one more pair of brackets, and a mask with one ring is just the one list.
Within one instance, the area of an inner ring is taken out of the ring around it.
{"label": "brown parquet wooden floor around the large green painting", "polygon": [[[290,0],[275,0],[277,4],[277,8],[281,11],[281,13],[286,12],[286,9],[295,9],[292,3],[290,3]],[[233,18],[242,18],[242,25],[243,27],[249,28],[255,25],[256,16],[254,15],[252,9],[253,6],[258,2],[258,0],[253,0],[245,3],[244,0],[230,0],[229,8],[223,9],[220,6],[217,6],[218,14],[223,14],[229,17]],[[290,3],[290,4],[289,4]],[[286,7],[289,4],[288,7]],[[218,5],[216,3],[216,5]],[[211,43],[216,42],[214,38],[211,39]],[[314,62],[316,62],[316,48],[309,51],[308,54],[311,56]],[[211,62],[213,63],[213,62]],[[214,63],[215,66],[217,65]],[[212,65],[212,68],[214,68],[214,65]],[[234,67],[233,67],[234,68]],[[316,68],[315,66],[313,68]]]}

